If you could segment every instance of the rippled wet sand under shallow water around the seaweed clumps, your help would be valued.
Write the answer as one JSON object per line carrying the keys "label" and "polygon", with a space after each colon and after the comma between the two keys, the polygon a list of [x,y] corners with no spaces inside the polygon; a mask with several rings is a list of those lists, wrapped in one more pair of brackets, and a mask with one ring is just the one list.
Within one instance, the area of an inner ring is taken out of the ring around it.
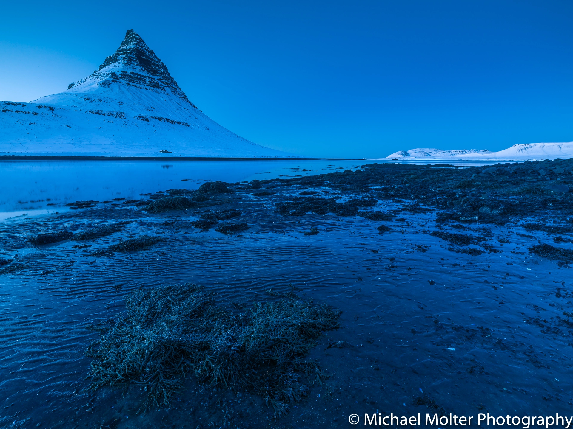
{"label": "rippled wet sand under shallow water around the seaweed clumps", "polygon": [[[152,185],[144,190],[158,190]],[[526,232],[512,224],[446,226],[485,235],[498,252],[469,256],[429,235],[437,231],[433,211],[401,212],[404,220],[385,223],[391,231],[378,234],[380,223],[361,217],[280,216],[273,203],[300,191],[275,190],[265,198],[238,193],[241,200],[221,207],[242,210],[236,219],[250,226],[234,236],[191,228],[199,210],[149,215],[108,205],[5,221],[0,257],[25,269],[0,276],[0,426],[348,427],[352,413],[439,412],[427,398],[457,415],[568,414],[573,324],[564,311],[571,275],[527,251],[550,237],[517,235]],[[132,223],[87,241],[86,249],[73,248],[83,243],[77,241],[26,241],[120,220]],[[313,226],[319,234],[304,236]],[[109,257],[84,252],[142,234],[163,241]],[[278,421],[260,398],[198,386],[193,378],[169,410],[148,414],[138,410],[136,390],[89,394],[83,353],[96,334],[86,325],[121,312],[129,291],[184,282],[205,285],[223,305],[245,307],[276,299],[292,283],[301,298],[342,309],[342,328],[326,333],[311,356],[331,378]],[[341,340],[352,347],[327,348]]]}

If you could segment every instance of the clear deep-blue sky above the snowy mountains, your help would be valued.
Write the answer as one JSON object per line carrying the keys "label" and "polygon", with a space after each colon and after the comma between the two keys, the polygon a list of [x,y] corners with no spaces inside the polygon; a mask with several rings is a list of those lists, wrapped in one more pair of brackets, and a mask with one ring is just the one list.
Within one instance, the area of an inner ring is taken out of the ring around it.
{"label": "clear deep-blue sky above the snowy mountains", "polygon": [[199,109],[272,148],[571,141],[572,23],[571,0],[4,0],[0,100],[65,90],[134,29]]}

